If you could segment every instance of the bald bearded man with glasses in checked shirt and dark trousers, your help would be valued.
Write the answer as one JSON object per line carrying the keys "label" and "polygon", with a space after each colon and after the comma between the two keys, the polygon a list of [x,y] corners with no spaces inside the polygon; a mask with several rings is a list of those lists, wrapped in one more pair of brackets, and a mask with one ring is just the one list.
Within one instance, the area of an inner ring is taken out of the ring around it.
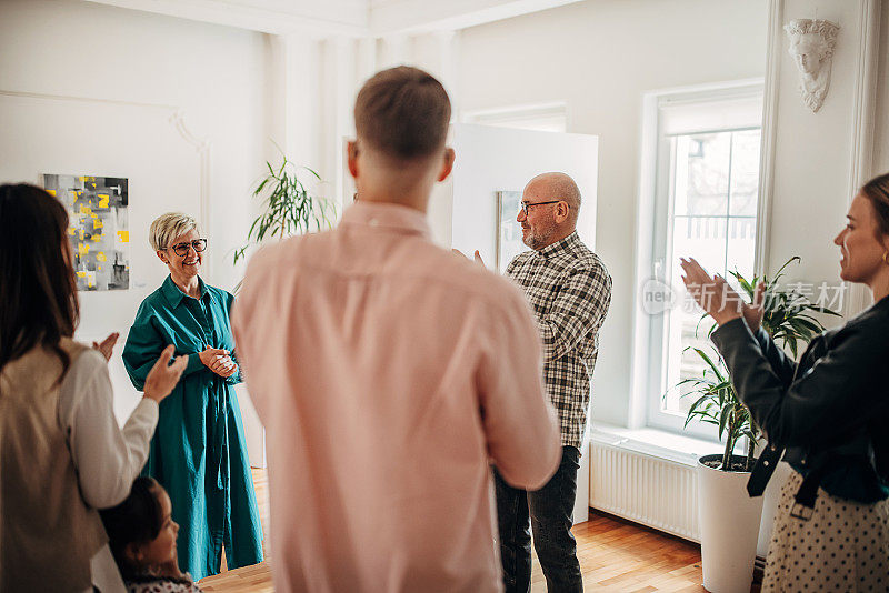
{"label": "bald bearded man with glasses in checked shirt and dark trousers", "polygon": [[[565,173],[543,173],[525,188],[517,221],[531,248],[507,275],[520,284],[543,340],[543,378],[559,414],[562,460],[538,491],[512,488],[495,471],[500,559],[507,593],[530,591],[531,533],[550,592],[582,591],[571,514],[587,425],[599,328],[611,302],[611,277],[577,234],[580,190]],[[529,521],[530,520],[530,521]]]}

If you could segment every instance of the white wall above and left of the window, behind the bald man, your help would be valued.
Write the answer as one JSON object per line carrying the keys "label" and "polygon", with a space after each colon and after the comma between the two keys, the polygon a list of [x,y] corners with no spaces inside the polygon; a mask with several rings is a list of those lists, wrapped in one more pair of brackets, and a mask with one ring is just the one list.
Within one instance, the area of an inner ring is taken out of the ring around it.
{"label": "white wall above and left of the window, behind the bald man", "polygon": [[766,21],[765,0],[590,0],[460,33],[462,109],[565,101],[568,131],[599,137],[596,248],[615,288],[593,419],[629,418],[642,92],[761,77]]}

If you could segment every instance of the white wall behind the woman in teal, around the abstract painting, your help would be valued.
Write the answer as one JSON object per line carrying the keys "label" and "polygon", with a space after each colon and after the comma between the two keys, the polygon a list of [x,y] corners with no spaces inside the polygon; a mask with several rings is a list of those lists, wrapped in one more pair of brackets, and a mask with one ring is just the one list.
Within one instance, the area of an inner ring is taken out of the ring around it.
{"label": "white wall behind the woman in teal, around the abstract painting", "polygon": [[[148,245],[151,220],[168,210],[200,215],[208,192],[204,279],[228,290],[239,279],[230,251],[273,150],[263,37],[86,2],[0,3],[0,181],[36,183],[44,172],[130,179],[132,288],[81,293],[78,332],[121,332],[111,363],[119,418],[137,401],[119,353],[139,303],[167,272]],[[203,153],[171,120],[180,110]]]}

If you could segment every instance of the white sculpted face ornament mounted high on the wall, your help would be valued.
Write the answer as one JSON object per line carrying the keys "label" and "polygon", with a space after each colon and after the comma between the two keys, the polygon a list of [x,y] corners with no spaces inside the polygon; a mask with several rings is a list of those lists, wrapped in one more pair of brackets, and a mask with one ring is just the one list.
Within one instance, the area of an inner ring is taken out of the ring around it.
{"label": "white sculpted face ornament mounted high on the wall", "polygon": [[812,113],[821,109],[830,87],[833,48],[839,24],[818,19],[795,19],[785,26],[788,52],[799,70],[802,102]]}

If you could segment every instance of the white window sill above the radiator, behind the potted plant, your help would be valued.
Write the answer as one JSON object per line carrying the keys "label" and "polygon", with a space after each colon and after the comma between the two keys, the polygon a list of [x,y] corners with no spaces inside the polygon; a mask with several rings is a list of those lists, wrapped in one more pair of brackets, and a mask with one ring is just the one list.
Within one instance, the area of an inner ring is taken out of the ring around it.
{"label": "white window sill above the radiator, behind the potted plant", "polygon": [[692,468],[701,455],[722,452],[722,444],[715,441],[658,429],[626,429],[603,422],[596,422],[591,428],[590,441]]}

